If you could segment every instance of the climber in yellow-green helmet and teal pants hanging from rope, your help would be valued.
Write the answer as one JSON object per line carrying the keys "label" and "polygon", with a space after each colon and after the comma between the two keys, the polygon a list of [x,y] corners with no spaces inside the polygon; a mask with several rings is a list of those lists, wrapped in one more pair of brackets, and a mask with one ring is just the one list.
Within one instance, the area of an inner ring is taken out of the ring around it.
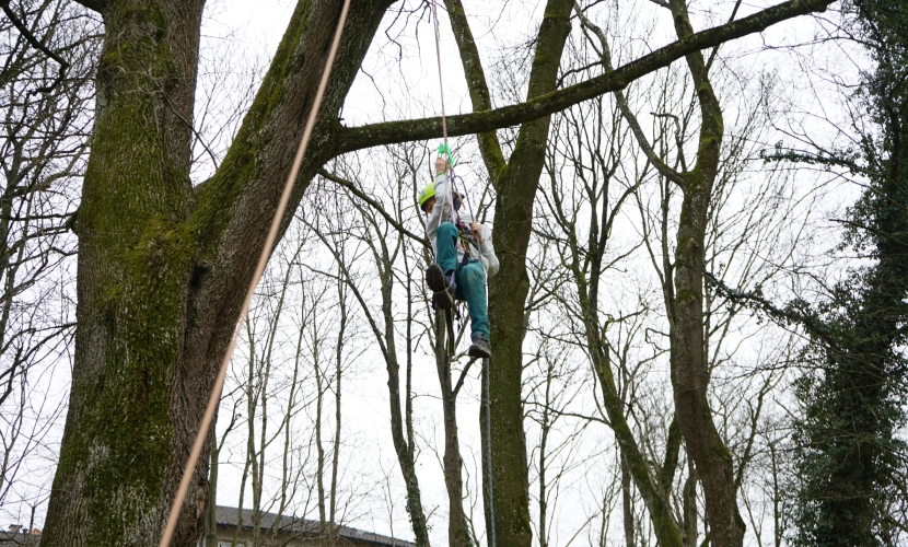
{"label": "climber in yellow-green helmet and teal pants hanging from rope", "polygon": [[426,234],[432,242],[435,263],[426,269],[426,284],[432,303],[450,310],[455,300],[465,300],[469,310],[470,357],[491,357],[489,316],[486,309],[486,275],[498,272],[492,233],[466,212],[461,212],[463,196],[452,191],[447,161],[435,160],[435,181],[419,194],[419,207],[428,214]]}

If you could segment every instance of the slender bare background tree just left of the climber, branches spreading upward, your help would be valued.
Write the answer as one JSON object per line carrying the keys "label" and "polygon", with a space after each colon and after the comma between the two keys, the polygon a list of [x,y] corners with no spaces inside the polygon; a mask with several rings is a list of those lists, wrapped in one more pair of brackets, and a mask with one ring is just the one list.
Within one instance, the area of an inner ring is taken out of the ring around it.
{"label": "slender bare background tree just left of the climber, branches spreading upward", "polygon": [[[347,200],[347,191],[356,195],[357,199],[351,201],[357,214],[352,218],[345,214],[348,209],[340,206],[333,209],[313,208],[321,211],[333,210],[334,214],[316,214],[304,222],[318,235],[322,244],[330,253],[338,268],[338,279],[349,288],[357,300],[382,356],[387,371],[391,437],[406,487],[406,510],[417,545],[429,545],[427,511],[417,476],[419,449],[414,428],[412,386],[415,351],[417,340],[422,337],[421,314],[416,306],[419,300],[424,299],[423,288],[415,271],[419,269],[417,257],[421,256],[423,240],[403,229],[403,203],[409,201],[409,186],[414,184],[414,178],[420,171],[414,161],[421,158],[422,150],[419,147],[404,146],[398,152],[399,161],[392,164],[389,174],[383,175],[384,191],[389,194],[387,197],[392,202],[398,203],[395,208],[388,208],[389,213],[379,201],[386,196],[375,195],[377,193],[374,188],[364,188],[363,184],[345,178],[357,178],[350,176],[356,172],[350,166],[337,162],[334,167],[340,175],[322,171],[323,184],[326,188],[331,188],[335,199],[344,199],[345,203],[350,202]],[[340,188],[337,188],[337,185],[340,185]],[[418,246],[415,247],[414,243]],[[362,264],[366,260],[374,269],[361,270],[356,266],[357,263]],[[377,306],[369,298],[375,278],[379,279]],[[395,298],[400,291],[404,296],[403,310],[397,305],[398,300]],[[401,327],[403,344],[398,341],[401,338],[398,328]],[[403,397],[401,363],[405,363]]]}

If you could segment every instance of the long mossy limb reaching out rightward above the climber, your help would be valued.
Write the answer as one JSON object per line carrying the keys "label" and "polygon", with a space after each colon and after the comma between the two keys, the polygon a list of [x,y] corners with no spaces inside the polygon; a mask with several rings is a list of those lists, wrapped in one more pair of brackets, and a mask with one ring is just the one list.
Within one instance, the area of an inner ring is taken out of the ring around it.
{"label": "long mossy limb reaching out rightward above the climber", "polygon": [[[670,66],[677,59],[724,42],[763,32],[782,21],[825,11],[831,0],[791,0],[759,11],[747,18],[701,31],[641,57],[602,75],[562,90],[547,93],[525,103],[491,110],[447,117],[449,137],[491,131],[539,119],[583,101],[625,89],[632,81]],[[382,144],[441,137],[441,118],[386,121],[339,130],[337,154]]]}

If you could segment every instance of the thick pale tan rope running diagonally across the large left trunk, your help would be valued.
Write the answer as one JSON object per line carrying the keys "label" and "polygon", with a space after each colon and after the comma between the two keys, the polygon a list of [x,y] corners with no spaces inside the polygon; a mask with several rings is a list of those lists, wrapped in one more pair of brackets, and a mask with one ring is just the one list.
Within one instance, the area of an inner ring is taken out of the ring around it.
{"label": "thick pale tan rope running diagonally across the large left trunk", "polygon": [[322,107],[322,98],[325,96],[325,88],[328,84],[328,78],[331,74],[331,67],[337,55],[337,49],[340,44],[340,36],[344,33],[344,24],[347,22],[347,13],[350,10],[350,0],[344,0],[344,7],[340,10],[340,21],[335,31],[331,48],[328,51],[328,57],[325,59],[325,69],[322,72],[322,80],[318,82],[318,89],[315,92],[315,101],[312,106],[312,112],[309,114],[305,128],[303,129],[303,138],[300,140],[300,147],[296,149],[296,155],[293,158],[293,166],[290,170],[290,175],[287,177],[287,183],[283,185],[283,193],[281,194],[280,202],[275,211],[275,218],[271,220],[271,229],[268,231],[268,237],[265,240],[265,246],[261,248],[261,255],[258,258],[253,279],[249,282],[249,289],[246,291],[246,298],[243,300],[243,306],[240,311],[240,318],[236,319],[236,326],[233,328],[233,336],[230,339],[230,345],[224,353],[224,359],[221,361],[221,369],[218,371],[218,377],[214,380],[214,386],[211,389],[211,396],[208,398],[208,407],[205,409],[205,416],[199,424],[199,431],[196,433],[196,442],[193,444],[193,451],[189,453],[189,461],[186,463],[186,468],[183,470],[183,479],[179,481],[179,488],[176,491],[171,513],[167,516],[167,525],[164,528],[164,535],[161,536],[159,547],[167,547],[173,537],[174,529],[176,529],[176,521],[179,517],[179,510],[183,502],[186,500],[186,492],[189,490],[189,481],[193,479],[193,470],[198,464],[201,449],[205,444],[205,439],[208,437],[208,430],[211,427],[211,421],[214,419],[214,411],[221,401],[221,389],[224,386],[224,377],[226,376],[228,364],[233,356],[233,349],[236,347],[236,338],[240,336],[241,328],[249,312],[249,303],[252,302],[255,289],[261,275],[265,272],[265,267],[268,265],[268,258],[271,256],[271,251],[275,242],[278,238],[278,230],[280,229],[281,219],[287,210],[287,205],[290,202],[290,194],[293,190],[293,182],[300,174],[300,165],[303,162],[303,155],[309,147],[312,130],[315,127],[315,118],[318,116],[318,110]]}

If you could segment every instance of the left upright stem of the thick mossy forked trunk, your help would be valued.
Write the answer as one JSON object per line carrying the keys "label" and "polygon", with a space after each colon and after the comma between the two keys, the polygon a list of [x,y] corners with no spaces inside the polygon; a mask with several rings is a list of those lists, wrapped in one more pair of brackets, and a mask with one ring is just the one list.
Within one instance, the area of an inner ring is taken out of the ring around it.
{"label": "left upright stem of the thick mossy forked trunk", "polygon": [[45,545],[152,545],[161,532],[193,264],[181,229],[191,208],[181,116],[193,112],[201,9],[145,0],[110,2],[104,13],[75,225],[73,384]]}

